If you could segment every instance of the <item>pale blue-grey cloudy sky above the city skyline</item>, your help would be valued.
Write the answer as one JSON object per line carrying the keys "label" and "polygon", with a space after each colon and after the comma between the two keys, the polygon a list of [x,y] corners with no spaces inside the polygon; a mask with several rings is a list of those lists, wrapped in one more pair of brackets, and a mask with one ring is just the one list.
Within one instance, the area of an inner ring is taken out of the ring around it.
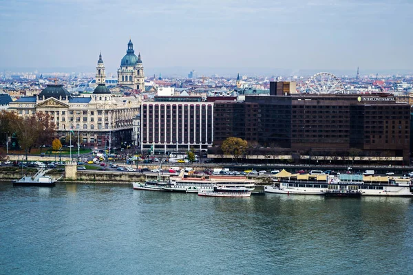
{"label": "pale blue-grey cloudy sky above the city skyline", "polygon": [[130,38],[145,72],[413,72],[412,13],[412,0],[0,0],[0,69],[94,72],[101,51],[116,72]]}

